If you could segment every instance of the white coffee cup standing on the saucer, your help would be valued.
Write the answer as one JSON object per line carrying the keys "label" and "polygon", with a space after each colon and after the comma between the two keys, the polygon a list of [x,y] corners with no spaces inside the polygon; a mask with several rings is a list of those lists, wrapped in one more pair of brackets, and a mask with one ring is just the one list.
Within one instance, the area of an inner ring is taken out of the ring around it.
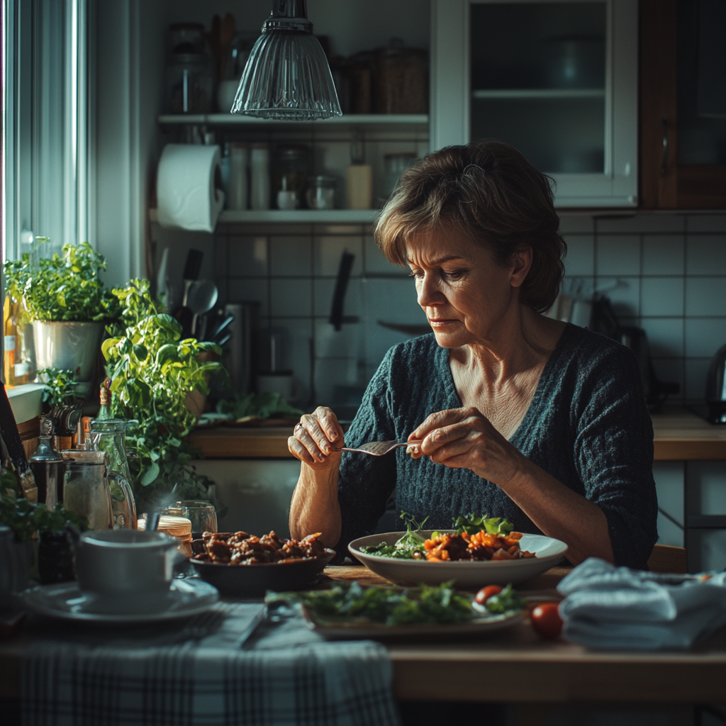
{"label": "white coffee cup standing on the saucer", "polygon": [[105,529],[86,532],[76,544],[78,587],[86,609],[144,613],[168,606],[174,564],[184,556],[163,532]]}

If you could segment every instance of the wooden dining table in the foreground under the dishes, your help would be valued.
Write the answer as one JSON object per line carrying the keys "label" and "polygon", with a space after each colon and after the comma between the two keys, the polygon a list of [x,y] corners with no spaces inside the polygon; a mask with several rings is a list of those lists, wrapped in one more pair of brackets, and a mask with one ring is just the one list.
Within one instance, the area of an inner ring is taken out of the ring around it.
{"label": "wooden dining table in the foreground under the dishes", "polygon": [[[552,568],[518,586],[557,597],[568,573]],[[362,566],[327,567],[333,580],[381,584]],[[33,640],[27,627],[0,640],[0,699],[20,698],[20,664]],[[726,629],[688,652],[597,651],[562,638],[542,640],[529,621],[469,638],[386,643],[399,701],[482,703],[711,703],[726,701]]]}

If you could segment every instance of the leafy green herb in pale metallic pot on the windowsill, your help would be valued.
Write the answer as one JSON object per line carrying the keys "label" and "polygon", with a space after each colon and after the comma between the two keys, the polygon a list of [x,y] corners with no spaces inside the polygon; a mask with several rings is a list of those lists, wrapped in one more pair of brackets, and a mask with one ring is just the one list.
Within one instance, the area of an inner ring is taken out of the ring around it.
{"label": "leafy green herb in pale metallic pot on the windowsill", "polygon": [[[36,247],[47,242],[36,237]],[[76,381],[91,379],[104,323],[118,311],[118,300],[105,290],[100,272],[105,258],[88,242],[63,245],[62,256],[33,261],[25,253],[4,264],[5,285],[13,301],[23,301],[33,324],[38,370],[70,370]]]}

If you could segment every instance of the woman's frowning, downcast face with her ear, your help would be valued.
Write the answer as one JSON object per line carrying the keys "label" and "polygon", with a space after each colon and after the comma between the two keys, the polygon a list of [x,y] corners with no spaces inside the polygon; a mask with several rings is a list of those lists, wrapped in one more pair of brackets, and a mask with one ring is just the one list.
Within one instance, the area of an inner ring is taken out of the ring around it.
{"label": "woman's frowning, downcast face with her ear", "polygon": [[507,314],[519,305],[519,290],[531,264],[531,250],[510,266],[457,232],[420,234],[407,248],[418,303],[436,342],[443,348],[486,343],[505,334]]}

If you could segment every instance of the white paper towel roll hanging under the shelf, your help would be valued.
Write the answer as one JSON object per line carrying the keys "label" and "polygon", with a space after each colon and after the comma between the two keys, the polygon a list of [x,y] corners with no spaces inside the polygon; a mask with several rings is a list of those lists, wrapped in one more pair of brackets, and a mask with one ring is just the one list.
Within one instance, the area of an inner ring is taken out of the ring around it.
{"label": "white paper towel roll hanging under the shelf", "polygon": [[156,176],[162,227],[213,232],[224,207],[219,146],[166,144]]}

